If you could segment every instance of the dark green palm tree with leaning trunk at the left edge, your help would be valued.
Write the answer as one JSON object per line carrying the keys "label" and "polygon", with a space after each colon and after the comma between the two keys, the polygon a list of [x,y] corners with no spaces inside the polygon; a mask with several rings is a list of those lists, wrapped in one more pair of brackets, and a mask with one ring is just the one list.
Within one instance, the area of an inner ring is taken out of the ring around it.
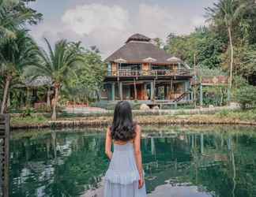
{"label": "dark green palm tree with leaning trunk at the left edge", "polygon": [[0,46],[0,67],[4,81],[1,112],[6,110],[9,86],[13,79],[20,77],[24,68],[36,61],[36,44],[27,31],[16,33],[15,39],[8,39]]}

